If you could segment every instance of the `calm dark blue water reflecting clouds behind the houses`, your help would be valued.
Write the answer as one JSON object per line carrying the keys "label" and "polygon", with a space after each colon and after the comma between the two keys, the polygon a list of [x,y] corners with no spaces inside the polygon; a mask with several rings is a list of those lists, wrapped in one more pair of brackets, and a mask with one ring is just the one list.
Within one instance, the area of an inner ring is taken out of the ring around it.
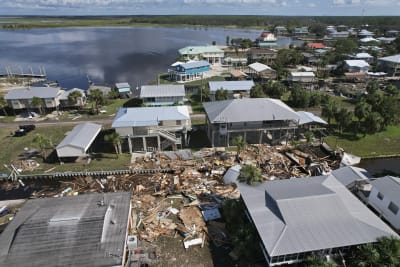
{"label": "calm dark blue water reflecting clouds behind the houses", "polygon": [[[224,45],[230,38],[254,40],[259,30],[222,28],[106,27],[0,31],[0,73],[6,66],[35,72],[44,66],[50,80],[62,87],[86,89],[98,83],[156,80],[175,62],[177,50],[188,45]],[[279,40],[288,45],[291,40]]]}

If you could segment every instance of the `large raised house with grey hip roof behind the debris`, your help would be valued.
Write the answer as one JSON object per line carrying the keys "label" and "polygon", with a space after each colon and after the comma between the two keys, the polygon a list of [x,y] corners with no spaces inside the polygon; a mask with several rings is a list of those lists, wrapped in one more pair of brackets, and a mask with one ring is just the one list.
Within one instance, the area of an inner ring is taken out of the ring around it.
{"label": "large raised house with grey hip roof behind the debris", "polygon": [[277,143],[298,128],[300,117],[278,99],[243,98],[203,103],[212,146],[229,146],[242,135],[248,143]]}

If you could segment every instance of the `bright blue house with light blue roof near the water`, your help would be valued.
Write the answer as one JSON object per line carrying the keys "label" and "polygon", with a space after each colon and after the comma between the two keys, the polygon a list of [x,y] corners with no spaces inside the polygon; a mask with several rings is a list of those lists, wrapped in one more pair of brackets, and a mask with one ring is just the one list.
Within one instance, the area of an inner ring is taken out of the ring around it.
{"label": "bright blue house with light blue roof near the water", "polygon": [[171,67],[172,69],[168,70],[170,79],[177,82],[203,79],[204,73],[210,70],[210,64],[207,61],[177,62]]}

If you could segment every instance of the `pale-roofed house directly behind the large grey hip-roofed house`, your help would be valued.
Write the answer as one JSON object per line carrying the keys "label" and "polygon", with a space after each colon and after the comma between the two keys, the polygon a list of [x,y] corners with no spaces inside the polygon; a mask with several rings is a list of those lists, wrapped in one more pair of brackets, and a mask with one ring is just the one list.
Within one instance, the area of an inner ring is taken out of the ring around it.
{"label": "pale-roofed house directly behind the large grey hip-roofed house", "polygon": [[250,95],[250,89],[254,86],[254,82],[250,81],[224,81],[224,82],[208,82],[210,87],[210,99],[215,101],[215,92],[221,88],[228,91],[228,97],[242,98]]}

